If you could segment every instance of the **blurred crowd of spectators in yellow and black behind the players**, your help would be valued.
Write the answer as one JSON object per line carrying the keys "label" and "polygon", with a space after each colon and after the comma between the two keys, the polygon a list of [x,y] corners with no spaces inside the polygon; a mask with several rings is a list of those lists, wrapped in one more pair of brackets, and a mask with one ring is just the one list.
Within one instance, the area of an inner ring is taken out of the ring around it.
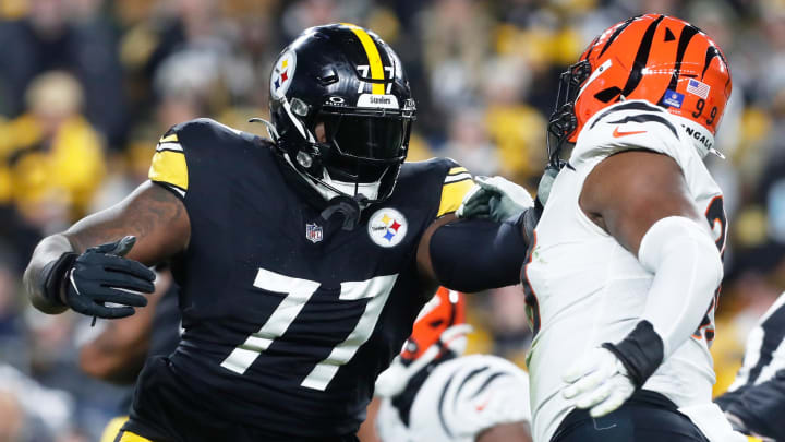
{"label": "blurred crowd of spectators in yellow and black behind the players", "polygon": [[[146,179],[174,123],[212,117],[264,133],[246,121],[268,114],[270,63],[302,29],[353,22],[399,53],[418,101],[411,160],[450,156],[534,190],[558,74],[641,12],[705,31],[734,77],[717,134],[727,159],[710,160],[730,220],[721,392],[785,289],[785,0],[0,1],[0,441],[96,440],[126,389],[80,373],[89,320],[24,299],[36,242]],[[470,350],[523,366],[520,288],[470,298]]]}

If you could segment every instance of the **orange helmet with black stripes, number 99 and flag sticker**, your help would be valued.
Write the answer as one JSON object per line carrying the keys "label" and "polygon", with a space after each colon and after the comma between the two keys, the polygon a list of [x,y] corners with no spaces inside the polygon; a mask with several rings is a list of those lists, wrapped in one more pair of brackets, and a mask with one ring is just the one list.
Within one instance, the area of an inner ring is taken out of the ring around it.
{"label": "orange helmet with black stripes, number 99 and flag sticker", "polygon": [[600,109],[645,99],[713,141],[730,89],[725,56],[705,33],[673,16],[639,15],[603,32],[561,75],[548,131],[575,142]]}

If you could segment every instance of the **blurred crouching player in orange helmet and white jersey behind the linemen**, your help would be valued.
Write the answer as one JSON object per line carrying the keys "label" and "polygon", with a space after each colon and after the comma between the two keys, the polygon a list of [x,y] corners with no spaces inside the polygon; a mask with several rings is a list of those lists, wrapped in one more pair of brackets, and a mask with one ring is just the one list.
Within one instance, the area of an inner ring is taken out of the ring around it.
{"label": "blurred crouching player in orange helmet and white jersey behind the linemen", "polygon": [[382,441],[531,442],[528,375],[496,356],[461,356],[464,309],[463,294],[440,288],[377,379]]}

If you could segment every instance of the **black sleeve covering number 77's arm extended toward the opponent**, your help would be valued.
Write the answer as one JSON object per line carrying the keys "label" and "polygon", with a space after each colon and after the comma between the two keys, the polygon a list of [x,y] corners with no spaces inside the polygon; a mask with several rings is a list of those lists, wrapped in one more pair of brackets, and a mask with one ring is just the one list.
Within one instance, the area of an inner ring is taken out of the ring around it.
{"label": "black sleeve covering number 77's arm extended toward the opponent", "polygon": [[471,219],[439,227],[431,239],[431,262],[439,284],[468,292],[518,284],[528,248],[523,218]]}

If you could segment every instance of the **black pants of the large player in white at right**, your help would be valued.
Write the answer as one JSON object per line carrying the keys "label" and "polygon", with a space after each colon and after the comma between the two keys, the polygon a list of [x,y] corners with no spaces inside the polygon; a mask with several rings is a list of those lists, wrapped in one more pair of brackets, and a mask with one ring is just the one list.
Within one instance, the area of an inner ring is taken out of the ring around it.
{"label": "black pants of the large player in white at right", "polygon": [[601,418],[572,410],[551,442],[709,442],[665,396],[639,391],[619,409]]}

